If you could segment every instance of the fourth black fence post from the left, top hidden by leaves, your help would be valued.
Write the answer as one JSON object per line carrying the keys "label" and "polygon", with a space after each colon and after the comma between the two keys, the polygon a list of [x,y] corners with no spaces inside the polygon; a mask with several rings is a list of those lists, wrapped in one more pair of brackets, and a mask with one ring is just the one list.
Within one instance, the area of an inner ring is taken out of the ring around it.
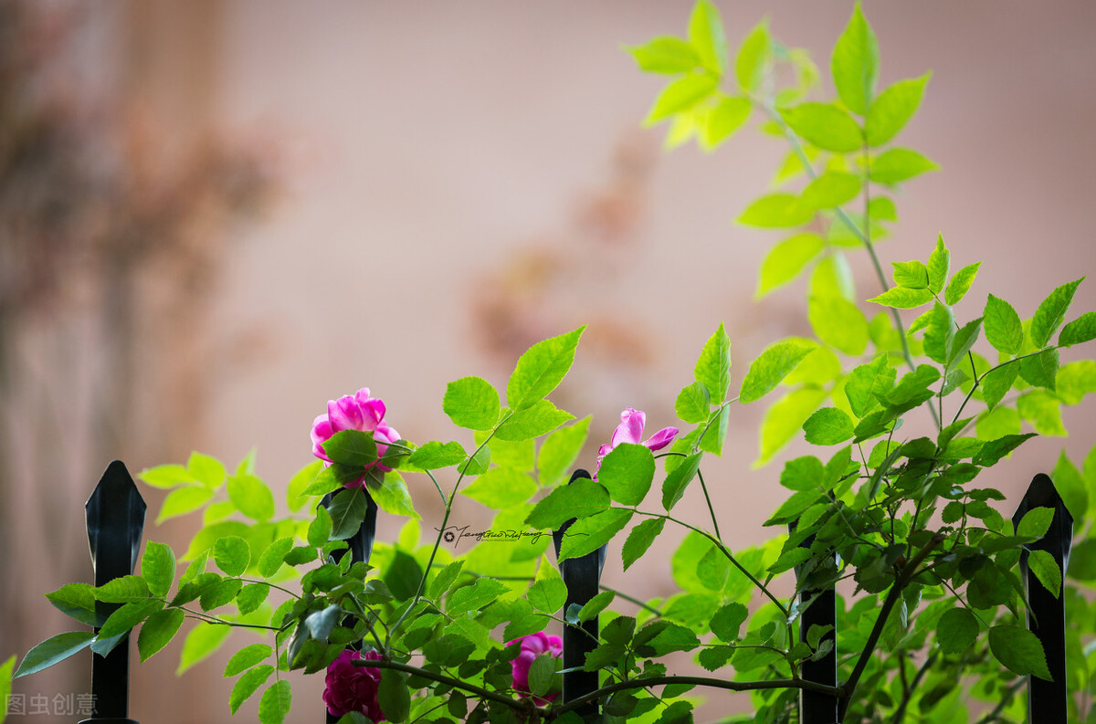
{"label": "fourth black fence post from the left, top hidden by leaves", "polygon": [[[789,526],[789,532],[795,535],[795,524]],[[800,548],[809,549],[814,542],[814,536],[809,536],[799,543]],[[796,581],[803,575],[802,566],[796,566]],[[799,605],[804,607],[799,614],[799,640],[807,641],[807,634],[812,625],[830,627],[830,631],[819,640],[819,645],[830,641],[830,651],[818,660],[808,659],[800,666],[800,676],[804,681],[813,681],[827,687],[837,686],[837,595],[833,585],[824,589],[804,589],[799,593]],[[836,724],[838,701],[836,697],[820,691],[802,689],[799,692],[800,724]]]}

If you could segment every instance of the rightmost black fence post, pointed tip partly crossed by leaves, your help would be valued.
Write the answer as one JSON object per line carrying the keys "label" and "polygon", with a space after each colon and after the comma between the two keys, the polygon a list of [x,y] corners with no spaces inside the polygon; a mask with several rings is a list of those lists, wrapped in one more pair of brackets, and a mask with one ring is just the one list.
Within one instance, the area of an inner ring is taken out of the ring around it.
{"label": "rightmost black fence post, pointed tip partly crossed by leaves", "polygon": [[[1014,529],[1032,508],[1053,508],[1054,518],[1047,535],[1027,545],[1030,551],[1047,551],[1058,563],[1065,577],[1070,564],[1070,547],[1073,543],[1073,516],[1058,494],[1050,478],[1039,473],[1031,480],[1024,499],[1013,515]],[[1065,689],[1065,602],[1061,596],[1064,581],[1059,582],[1055,598],[1036,578],[1027,564],[1028,553],[1020,555],[1020,576],[1027,590],[1028,629],[1039,637],[1047,653],[1047,667],[1053,681],[1044,681],[1036,676],[1028,677],[1028,722],[1030,724],[1064,724],[1069,713]]]}

